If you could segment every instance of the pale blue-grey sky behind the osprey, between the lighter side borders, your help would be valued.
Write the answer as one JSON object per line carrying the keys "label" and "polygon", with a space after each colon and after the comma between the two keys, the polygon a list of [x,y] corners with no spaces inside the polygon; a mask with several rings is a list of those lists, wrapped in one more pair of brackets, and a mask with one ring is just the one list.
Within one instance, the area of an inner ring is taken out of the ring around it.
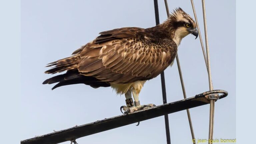
{"label": "pale blue-grey sky behind the osprey, between the lighter side borders", "polygon": [[[168,1],[170,11],[181,7],[193,16],[189,0]],[[160,22],[166,19],[163,0],[159,0]],[[203,33],[201,1],[195,1]],[[218,8],[216,10],[216,7]],[[44,74],[45,64],[69,56],[99,32],[114,28],[155,25],[153,0],[67,1],[24,0],[21,3],[21,139],[34,137],[120,115],[124,96],[111,88],[93,89],[82,84],[57,88],[41,83],[52,75]],[[214,138],[235,138],[235,1],[207,1],[206,13],[212,79],[215,89],[229,96],[216,103]],[[208,77],[199,39],[189,35],[179,46],[179,58],[188,97],[208,90]],[[183,98],[176,62],[165,70],[167,101]],[[140,93],[143,104],[162,104],[160,76],[148,81]],[[106,105],[107,103],[107,105]],[[191,117],[195,137],[208,138],[209,105],[193,108]],[[190,143],[186,111],[169,115],[172,143]],[[158,117],[77,140],[81,143],[166,143],[164,117]],[[70,142],[65,142],[70,143]]]}

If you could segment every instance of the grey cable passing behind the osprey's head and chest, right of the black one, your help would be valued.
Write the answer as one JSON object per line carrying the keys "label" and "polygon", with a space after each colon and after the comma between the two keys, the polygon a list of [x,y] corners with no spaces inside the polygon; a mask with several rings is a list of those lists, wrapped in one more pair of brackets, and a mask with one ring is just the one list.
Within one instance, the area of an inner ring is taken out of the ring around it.
{"label": "grey cable passing behind the osprey's head and chest, right of the black one", "polygon": [[[167,17],[168,17],[170,13],[169,13],[169,7],[168,7],[167,0],[164,0],[164,3],[165,3],[166,13],[167,13]],[[185,90],[184,81],[183,81],[183,77],[182,77],[182,72],[181,72],[181,67],[180,67],[180,61],[179,61],[178,54],[176,55],[176,61],[177,61],[177,65],[178,65],[178,70],[179,70],[179,75],[180,75],[180,82],[181,82],[183,96],[184,96],[184,99],[186,99],[187,95],[186,95],[186,90]],[[191,117],[190,117],[189,109],[187,109],[187,115],[188,115],[188,121],[189,121],[189,127],[190,127],[190,131],[191,131],[191,136],[192,136],[192,139],[195,139],[195,135],[194,135],[194,130],[193,130],[193,125],[192,125],[192,120],[191,120]],[[193,142],[193,144],[196,144],[196,142]]]}

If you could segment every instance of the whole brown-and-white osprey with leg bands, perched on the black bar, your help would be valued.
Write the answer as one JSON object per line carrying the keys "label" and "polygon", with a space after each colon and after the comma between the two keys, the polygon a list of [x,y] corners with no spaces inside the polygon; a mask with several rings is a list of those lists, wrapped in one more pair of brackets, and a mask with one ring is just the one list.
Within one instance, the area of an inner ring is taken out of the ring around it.
{"label": "whole brown-and-white osprey with leg bands, perched on the black bar", "polygon": [[197,38],[198,31],[194,20],[177,8],[157,26],[124,27],[99,34],[70,57],[49,63],[47,67],[54,67],[45,73],[66,73],[43,84],[57,83],[52,89],[71,84],[112,87],[118,94],[125,94],[127,106],[121,109],[133,112],[155,106],[140,105],[139,93],[144,83],[172,64],[182,38],[188,34]]}

